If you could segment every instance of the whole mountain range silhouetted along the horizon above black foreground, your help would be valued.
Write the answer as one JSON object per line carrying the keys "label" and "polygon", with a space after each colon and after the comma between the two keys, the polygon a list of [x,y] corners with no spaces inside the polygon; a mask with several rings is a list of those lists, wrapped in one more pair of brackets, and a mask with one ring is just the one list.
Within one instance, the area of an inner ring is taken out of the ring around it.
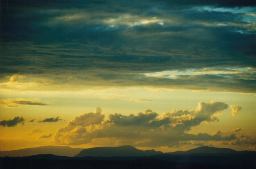
{"label": "whole mountain range silhouetted along the horizon above black foreground", "polygon": [[176,152],[161,152],[155,150],[139,150],[133,146],[125,145],[119,147],[94,147],[89,149],[83,148],[71,148],[69,146],[43,146],[34,147],[21,150],[12,151],[0,151],[0,157],[22,157],[32,156],[38,154],[52,154],[57,156],[68,157],[143,157],[143,156],[156,156],[156,155],[199,155],[199,154],[232,154],[232,155],[246,155],[256,154],[255,151],[235,151],[227,148],[216,147],[198,147],[188,151],[176,151]]}

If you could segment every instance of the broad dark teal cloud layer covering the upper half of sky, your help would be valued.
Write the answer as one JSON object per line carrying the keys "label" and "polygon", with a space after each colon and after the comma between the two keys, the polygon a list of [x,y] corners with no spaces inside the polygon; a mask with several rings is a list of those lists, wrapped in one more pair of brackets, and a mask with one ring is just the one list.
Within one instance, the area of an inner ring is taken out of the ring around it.
{"label": "broad dark teal cloud layer covering the upper half of sky", "polygon": [[250,0],[2,6],[1,88],[16,89],[6,81],[17,83],[26,75],[33,85],[17,83],[23,90],[147,86],[256,92],[256,13]]}

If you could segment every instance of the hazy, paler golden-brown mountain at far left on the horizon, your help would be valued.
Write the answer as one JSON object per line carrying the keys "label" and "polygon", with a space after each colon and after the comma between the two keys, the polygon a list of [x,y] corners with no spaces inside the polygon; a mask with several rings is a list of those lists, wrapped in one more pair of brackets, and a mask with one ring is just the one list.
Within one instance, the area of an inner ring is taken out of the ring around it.
{"label": "hazy, paler golden-brown mountain at far left on the horizon", "polygon": [[0,157],[23,157],[31,156],[37,154],[53,154],[58,156],[69,156],[72,157],[78,154],[82,148],[71,148],[69,146],[43,146],[34,147],[21,150],[11,150],[11,151],[0,151]]}

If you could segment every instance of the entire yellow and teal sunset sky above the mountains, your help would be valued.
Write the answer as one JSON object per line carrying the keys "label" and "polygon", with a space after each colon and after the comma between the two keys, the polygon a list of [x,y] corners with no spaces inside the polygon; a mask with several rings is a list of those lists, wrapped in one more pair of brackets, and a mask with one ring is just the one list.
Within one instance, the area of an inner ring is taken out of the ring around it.
{"label": "entire yellow and teal sunset sky above the mountains", "polygon": [[0,150],[256,151],[252,0],[2,0]]}

